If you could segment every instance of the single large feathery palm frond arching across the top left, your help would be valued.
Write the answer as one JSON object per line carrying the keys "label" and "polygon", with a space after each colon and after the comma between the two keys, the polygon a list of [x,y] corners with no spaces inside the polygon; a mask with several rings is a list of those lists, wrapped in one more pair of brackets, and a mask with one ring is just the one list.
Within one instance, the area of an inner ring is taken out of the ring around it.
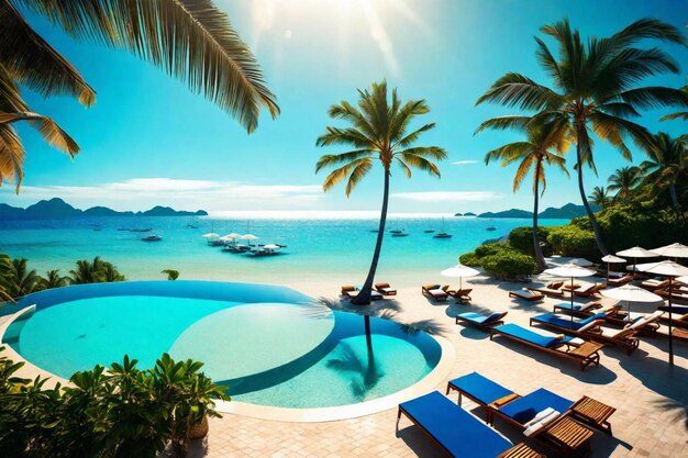
{"label": "single large feathery palm frond arching across the top left", "polygon": [[253,132],[279,114],[255,57],[211,0],[14,0],[79,40],[125,49],[187,83]]}

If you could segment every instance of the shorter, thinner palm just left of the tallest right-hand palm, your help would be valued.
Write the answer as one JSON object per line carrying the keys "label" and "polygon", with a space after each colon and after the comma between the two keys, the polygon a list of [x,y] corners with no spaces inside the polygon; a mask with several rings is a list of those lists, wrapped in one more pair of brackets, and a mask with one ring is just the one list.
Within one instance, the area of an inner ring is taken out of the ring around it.
{"label": "shorter, thinner palm just left of the tallest right-hand palm", "polygon": [[[557,166],[567,176],[566,159],[562,156],[570,145],[570,129],[567,123],[555,120],[546,124],[525,123],[528,139],[514,142],[492,149],[485,156],[485,164],[490,160],[501,160],[501,166],[519,163],[513,178],[513,192],[517,192],[529,172],[533,174],[533,250],[539,271],[547,265],[540,246],[537,233],[537,214],[540,197],[544,194],[547,182],[545,180],[545,165]],[[480,129],[478,129],[480,131]],[[540,187],[542,186],[542,190]]]}

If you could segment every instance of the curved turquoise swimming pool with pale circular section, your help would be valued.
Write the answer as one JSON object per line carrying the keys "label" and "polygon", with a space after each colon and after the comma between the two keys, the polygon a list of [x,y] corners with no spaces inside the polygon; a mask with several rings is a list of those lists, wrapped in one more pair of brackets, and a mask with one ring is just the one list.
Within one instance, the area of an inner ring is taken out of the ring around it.
{"label": "curved turquoise swimming pool with pale circular section", "polygon": [[233,400],[281,407],[354,404],[408,388],[437,365],[428,334],[332,312],[279,287],[198,281],[77,286],[24,298],[36,312],[4,336],[63,378],[126,354],[152,367],[163,353],[193,358]]}

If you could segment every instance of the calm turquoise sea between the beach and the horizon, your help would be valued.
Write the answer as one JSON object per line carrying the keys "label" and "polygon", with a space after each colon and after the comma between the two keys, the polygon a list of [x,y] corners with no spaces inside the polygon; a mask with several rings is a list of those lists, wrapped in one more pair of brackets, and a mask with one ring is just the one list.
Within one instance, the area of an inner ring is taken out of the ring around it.
{"label": "calm turquoise sea between the beach and the horizon", "polygon": [[[0,221],[0,250],[25,257],[40,273],[59,268],[64,275],[77,259],[101,256],[118,266],[129,279],[163,279],[163,269],[176,269],[186,279],[235,280],[265,283],[307,282],[336,278],[344,283],[362,282],[370,262],[377,234],[377,219],[347,217],[80,217],[69,220]],[[567,220],[543,220],[543,225]],[[410,277],[434,281],[437,272],[455,265],[460,254],[530,220],[471,219],[441,215],[392,216],[389,230],[404,230],[409,236],[385,235],[377,278],[399,281]],[[198,227],[188,227],[188,225]],[[488,231],[488,227],[495,227]],[[121,227],[153,228],[149,233],[118,231]],[[96,231],[98,230],[98,231]],[[425,230],[453,234],[436,239]],[[224,253],[208,246],[208,232],[249,232],[253,242],[287,245],[282,254],[254,258]],[[141,237],[155,233],[162,242]],[[419,276],[423,276],[419,278]],[[434,277],[431,277],[434,276]]]}

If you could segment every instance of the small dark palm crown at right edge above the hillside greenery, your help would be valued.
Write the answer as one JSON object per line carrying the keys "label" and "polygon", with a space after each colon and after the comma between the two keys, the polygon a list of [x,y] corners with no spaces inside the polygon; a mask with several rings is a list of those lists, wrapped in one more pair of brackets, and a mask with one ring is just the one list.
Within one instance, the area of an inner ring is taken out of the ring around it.
{"label": "small dark palm crown at right edge above the hillside greenery", "polygon": [[688,148],[685,138],[673,138],[666,132],[655,135],[653,147],[647,150],[648,160],[641,164],[645,179],[656,189],[669,190],[672,203],[679,205],[676,185],[688,177]]}

